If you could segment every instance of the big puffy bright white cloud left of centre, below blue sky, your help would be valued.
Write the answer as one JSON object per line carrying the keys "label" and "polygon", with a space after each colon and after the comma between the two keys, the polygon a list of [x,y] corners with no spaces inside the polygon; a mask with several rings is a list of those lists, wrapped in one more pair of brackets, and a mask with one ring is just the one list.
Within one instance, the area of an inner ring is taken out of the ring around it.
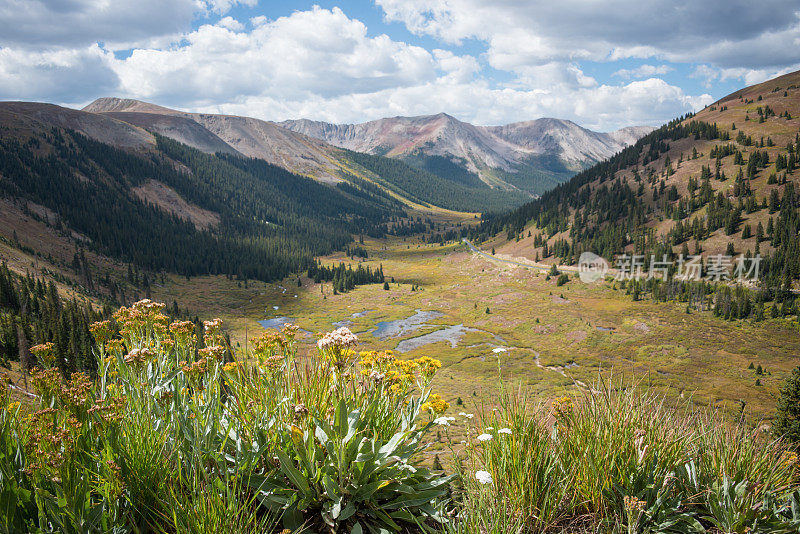
{"label": "big puffy bright white cloud left of centre, below blue sky", "polygon": [[437,59],[386,35],[368,37],[364,24],[338,8],[258,20],[250,32],[230,27],[227,21],[204,25],[184,35],[180,45],[133,51],[115,62],[122,90],[195,102],[265,94],[336,97],[432,80],[437,65],[461,72],[471,68],[466,59],[441,54]]}

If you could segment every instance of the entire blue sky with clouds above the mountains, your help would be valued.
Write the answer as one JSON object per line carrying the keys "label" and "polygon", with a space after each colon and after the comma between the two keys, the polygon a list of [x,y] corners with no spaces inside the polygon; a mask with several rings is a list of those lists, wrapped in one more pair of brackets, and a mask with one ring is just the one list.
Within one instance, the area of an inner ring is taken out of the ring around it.
{"label": "entire blue sky with clouds above the mountains", "polygon": [[797,0],[0,0],[0,100],[657,126],[800,69]]}

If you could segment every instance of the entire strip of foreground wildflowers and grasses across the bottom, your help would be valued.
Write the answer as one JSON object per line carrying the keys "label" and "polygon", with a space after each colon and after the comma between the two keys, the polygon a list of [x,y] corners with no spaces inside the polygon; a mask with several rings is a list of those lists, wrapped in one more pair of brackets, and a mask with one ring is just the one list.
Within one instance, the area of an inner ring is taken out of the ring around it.
{"label": "entire strip of foreground wildflowers and grasses across the bottom", "polygon": [[760,429],[621,385],[546,404],[501,389],[460,414],[448,477],[420,465],[455,420],[437,360],[356,354],[347,329],[298,358],[287,327],[237,361],[218,321],[198,339],[161,308],[122,308],[119,336],[92,325],[96,381],[32,347],[35,411],[3,384],[0,532],[800,531],[797,454]]}

